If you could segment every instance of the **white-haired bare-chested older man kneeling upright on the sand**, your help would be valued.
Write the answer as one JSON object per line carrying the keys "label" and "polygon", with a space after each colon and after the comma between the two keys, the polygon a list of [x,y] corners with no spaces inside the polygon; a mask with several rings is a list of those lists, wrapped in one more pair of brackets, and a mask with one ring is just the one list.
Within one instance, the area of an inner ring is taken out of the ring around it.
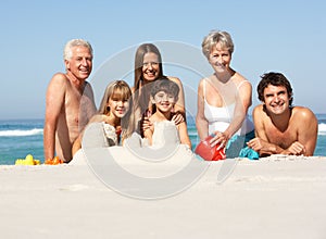
{"label": "white-haired bare-chested older man kneeling upright on the sand", "polygon": [[52,77],[46,99],[45,160],[72,160],[72,144],[96,112],[92,88],[86,79],[92,70],[91,45],[82,39],[64,48],[66,73]]}

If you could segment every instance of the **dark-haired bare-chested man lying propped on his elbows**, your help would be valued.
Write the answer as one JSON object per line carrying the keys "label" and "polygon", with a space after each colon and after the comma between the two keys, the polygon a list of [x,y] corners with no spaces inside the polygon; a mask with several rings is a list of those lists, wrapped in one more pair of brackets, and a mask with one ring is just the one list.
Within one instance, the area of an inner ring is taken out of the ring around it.
{"label": "dark-haired bare-chested man lying propped on his elbows", "polygon": [[292,106],[292,88],[280,73],[267,73],[258,86],[263,102],[253,110],[255,138],[248,146],[260,155],[314,153],[318,123],[308,108]]}

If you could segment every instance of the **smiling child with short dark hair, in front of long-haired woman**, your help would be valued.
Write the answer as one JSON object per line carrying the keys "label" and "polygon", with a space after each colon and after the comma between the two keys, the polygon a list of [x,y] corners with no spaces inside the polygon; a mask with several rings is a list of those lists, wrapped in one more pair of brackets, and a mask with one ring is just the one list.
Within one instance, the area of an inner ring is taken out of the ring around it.
{"label": "smiling child with short dark hair, in front of long-haired woman", "polygon": [[155,135],[154,131],[158,130],[159,124],[166,123],[168,121],[175,125],[180,143],[187,144],[191,149],[191,141],[188,136],[186,122],[184,121],[176,125],[173,117],[173,109],[178,100],[178,93],[179,87],[176,83],[172,80],[168,80],[166,78],[160,78],[152,83],[150,99],[153,104],[153,114],[149,116],[149,121],[152,124],[149,128],[147,128],[143,131],[145,138],[148,139],[150,146],[152,146],[155,141],[153,136]]}

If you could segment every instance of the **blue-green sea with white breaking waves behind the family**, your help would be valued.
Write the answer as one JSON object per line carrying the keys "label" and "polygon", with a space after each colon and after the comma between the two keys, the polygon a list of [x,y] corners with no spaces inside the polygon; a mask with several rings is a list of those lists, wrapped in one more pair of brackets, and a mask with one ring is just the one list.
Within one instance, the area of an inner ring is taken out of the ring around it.
{"label": "blue-green sea with white breaking waves behind the family", "polygon": [[[316,114],[318,138],[315,156],[326,156],[326,114]],[[192,146],[199,141],[195,121],[187,120]],[[0,165],[13,165],[32,154],[43,163],[43,120],[0,120]]]}

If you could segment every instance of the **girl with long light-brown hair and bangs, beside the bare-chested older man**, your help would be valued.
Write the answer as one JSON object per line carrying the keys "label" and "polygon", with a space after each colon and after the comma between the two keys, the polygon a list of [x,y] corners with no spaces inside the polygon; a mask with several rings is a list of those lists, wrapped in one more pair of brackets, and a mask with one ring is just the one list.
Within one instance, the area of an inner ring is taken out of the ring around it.
{"label": "girl with long light-brown hair and bangs, beside the bare-chested older man", "polygon": [[[133,122],[129,110],[131,104],[131,90],[126,81],[115,80],[106,87],[99,111],[90,118],[89,124],[102,123],[109,146],[122,144],[123,140],[131,135],[128,131],[128,122]],[[73,155],[82,148],[83,135],[80,134],[73,144]]]}

